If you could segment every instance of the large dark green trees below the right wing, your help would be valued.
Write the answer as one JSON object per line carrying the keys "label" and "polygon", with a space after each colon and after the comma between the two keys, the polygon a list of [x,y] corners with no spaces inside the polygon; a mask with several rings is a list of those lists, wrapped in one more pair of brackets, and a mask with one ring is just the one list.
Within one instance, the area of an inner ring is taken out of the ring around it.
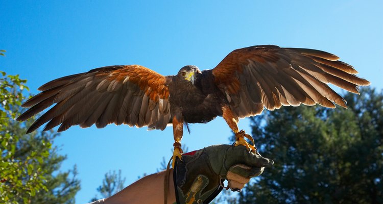
{"label": "large dark green trees below the right wing", "polygon": [[275,163],[239,203],[383,203],[383,93],[344,97],[348,109],[282,107],[251,118]]}

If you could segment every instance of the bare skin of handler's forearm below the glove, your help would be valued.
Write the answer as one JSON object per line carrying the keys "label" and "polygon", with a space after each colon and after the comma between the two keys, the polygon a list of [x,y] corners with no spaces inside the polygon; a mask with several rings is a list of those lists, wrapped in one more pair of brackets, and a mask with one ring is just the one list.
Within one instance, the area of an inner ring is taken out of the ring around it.
{"label": "bare skin of handler's forearm below the glove", "polygon": [[[173,169],[170,169],[173,175]],[[124,204],[124,203],[160,203],[163,204],[163,180],[166,171],[161,171],[134,182],[122,191],[104,199],[104,204]],[[167,203],[176,202],[173,176],[169,176],[169,191],[167,193]]]}

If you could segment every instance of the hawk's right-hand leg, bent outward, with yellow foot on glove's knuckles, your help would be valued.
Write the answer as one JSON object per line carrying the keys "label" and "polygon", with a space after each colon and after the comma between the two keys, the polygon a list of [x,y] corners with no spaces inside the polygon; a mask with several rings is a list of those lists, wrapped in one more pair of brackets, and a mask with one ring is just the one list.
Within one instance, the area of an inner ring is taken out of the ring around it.
{"label": "hawk's right-hand leg, bent outward, with yellow foot on glove's knuckles", "polygon": [[[254,139],[251,137],[249,134],[246,134],[244,130],[239,130],[238,129],[238,118],[234,117],[233,112],[231,112],[230,108],[228,106],[222,107],[222,117],[225,119],[227,124],[229,125],[230,129],[234,132],[235,134],[235,142],[234,146],[238,145],[244,145],[246,146],[251,152],[255,153],[257,152],[257,148],[254,146]],[[253,142],[253,145],[249,144],[246,140],[245,137],[248,138],[251,142]]]}

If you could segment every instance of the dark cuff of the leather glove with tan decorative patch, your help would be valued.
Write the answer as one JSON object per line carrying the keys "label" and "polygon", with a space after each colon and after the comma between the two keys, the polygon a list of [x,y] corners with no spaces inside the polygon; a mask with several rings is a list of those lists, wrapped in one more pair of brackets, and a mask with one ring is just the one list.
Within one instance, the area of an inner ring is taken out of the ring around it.
{"label": "dark cuff of the leather glove with tan decorative patch", "polygon": [[177,204],[209,203],[223,189],[220,180],[204,149],[182,155],[182,161],[177,158],[173,170]]}

